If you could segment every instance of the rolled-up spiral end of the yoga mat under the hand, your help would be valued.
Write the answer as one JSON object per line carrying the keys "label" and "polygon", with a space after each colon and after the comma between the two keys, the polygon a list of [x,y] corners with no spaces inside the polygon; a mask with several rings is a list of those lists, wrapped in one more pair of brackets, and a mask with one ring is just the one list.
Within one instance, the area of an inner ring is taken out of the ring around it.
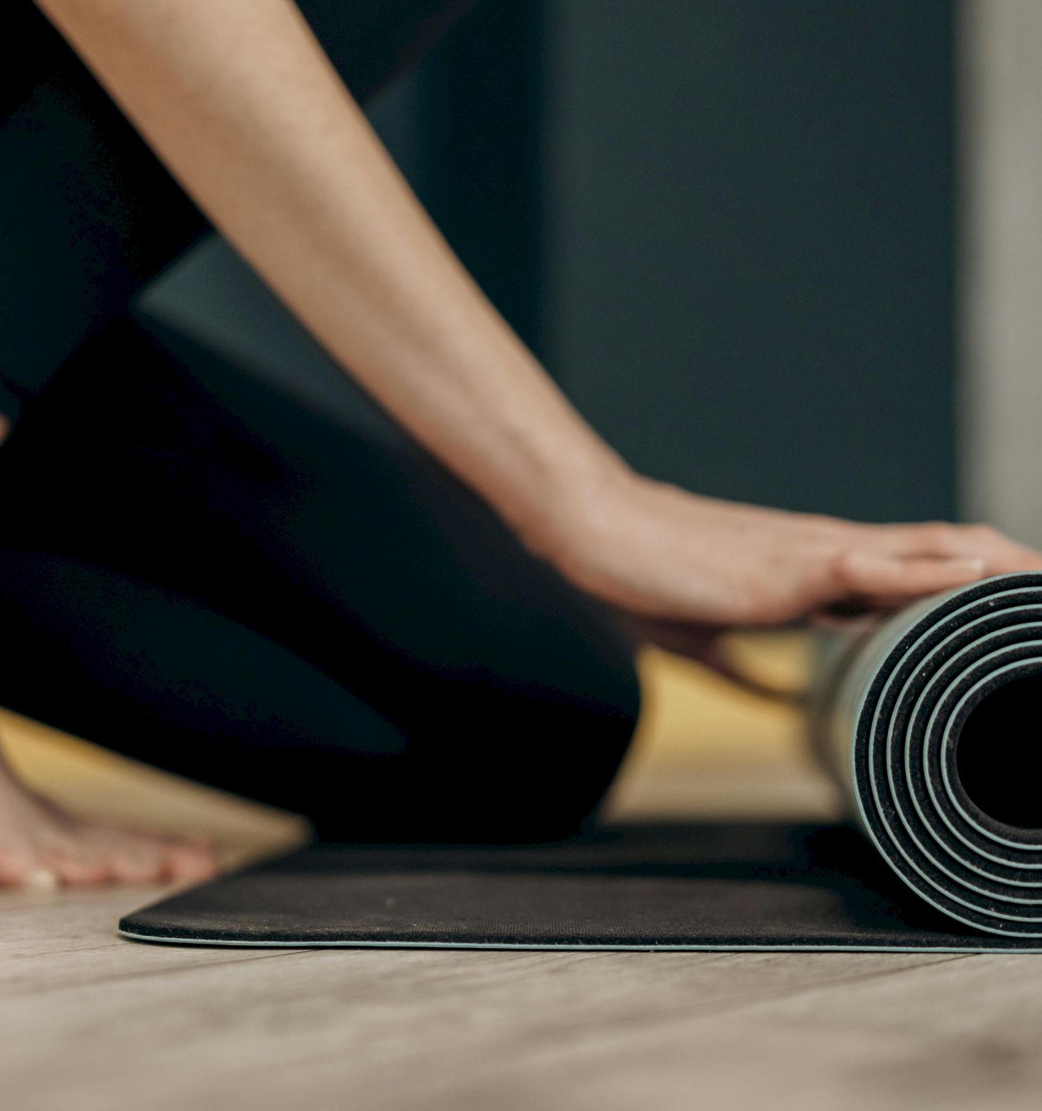
{"label": "rolled-up spiral end of the yoga mat under the hand", "polygon": [[1042,938],[1042,574],[838,638],[820,677],[815,745],[890,867],[960,922]]}

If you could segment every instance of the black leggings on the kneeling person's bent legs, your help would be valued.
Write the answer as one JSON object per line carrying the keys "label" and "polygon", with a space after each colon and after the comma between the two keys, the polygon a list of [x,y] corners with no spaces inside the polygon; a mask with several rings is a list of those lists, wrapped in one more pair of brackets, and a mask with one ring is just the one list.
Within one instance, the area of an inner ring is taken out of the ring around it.
{"label": "black leggings on the kneeling person's bent legs", "polygon": [[11,709],[335,838],[564,835],[625,752],[594,603],[415,447],[182,337],[93,336],[0,482]]}

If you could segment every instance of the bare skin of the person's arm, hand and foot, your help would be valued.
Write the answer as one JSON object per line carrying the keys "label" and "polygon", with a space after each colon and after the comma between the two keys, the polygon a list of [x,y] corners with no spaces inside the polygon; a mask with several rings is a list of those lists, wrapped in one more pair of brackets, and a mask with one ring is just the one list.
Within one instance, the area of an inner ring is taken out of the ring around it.
{"label": "bare skin of the person's arm, hand and foot", "polygon": [[[337,362],[537,556],[641,637],[889,609],[1038,553],[986,527],[868,526],[634,473],[431,223],[290,0],[40,0],[200,208]],[[0,881],[197,878],[209,849],[116,837],[0,768]]]}

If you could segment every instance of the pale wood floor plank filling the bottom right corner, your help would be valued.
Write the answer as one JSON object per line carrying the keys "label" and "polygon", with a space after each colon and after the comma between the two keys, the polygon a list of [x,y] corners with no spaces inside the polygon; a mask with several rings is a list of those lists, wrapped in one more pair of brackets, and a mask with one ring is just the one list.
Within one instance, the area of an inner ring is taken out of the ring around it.
{"label": "pale wood floor plank filling the bottom right corner", "polygon": [[644,1023],[562,1040],[538,1054],[522,1049],[458,1081],[399,1089],[382,1107],[1026,1111],[1038,1108],[1042,1083],[1040,989],[1042,963],[1025,957],[876,969],[723,1012],[657,1010]]}

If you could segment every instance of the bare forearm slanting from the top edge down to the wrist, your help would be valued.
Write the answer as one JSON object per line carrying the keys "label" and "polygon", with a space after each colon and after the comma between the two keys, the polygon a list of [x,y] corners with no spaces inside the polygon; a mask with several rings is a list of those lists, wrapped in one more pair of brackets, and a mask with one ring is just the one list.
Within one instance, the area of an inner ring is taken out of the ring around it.
{"label": "bare forearm slanting from the top edge down to the wrist", "polygon": [[289,308],[535,546],[623,468],[489,304],[289,0],[41,0]]}

